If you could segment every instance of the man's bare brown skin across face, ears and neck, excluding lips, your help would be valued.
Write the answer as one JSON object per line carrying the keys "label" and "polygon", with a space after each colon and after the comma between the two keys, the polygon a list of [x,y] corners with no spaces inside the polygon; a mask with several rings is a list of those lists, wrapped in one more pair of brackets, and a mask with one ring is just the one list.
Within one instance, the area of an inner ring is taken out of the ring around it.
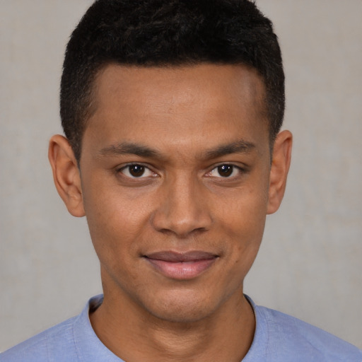
{"label": "man's bare brown skin across face, ears and neck, excluding lips", "polygon": [[[68,141],[52,137],[55,185],[87,217],[100,259],[104,301],[91,323],[125,361],[247,354],[255,317],[243,280],[291,158],[288,131],[270,154],[263,99],[245,66],[112,64],[95,82],[79,169]],[[212,255],[196,274],[170,276],[149,258],[195,251]]]}

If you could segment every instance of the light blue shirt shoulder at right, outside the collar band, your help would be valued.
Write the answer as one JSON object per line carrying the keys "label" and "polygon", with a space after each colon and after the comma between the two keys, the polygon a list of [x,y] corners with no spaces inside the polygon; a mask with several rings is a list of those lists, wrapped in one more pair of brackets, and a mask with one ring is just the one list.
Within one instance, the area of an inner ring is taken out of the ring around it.
{"label": "light blue shirt shoulder at right, outside the collar band", "polygon": [[293,356],[293,361],[362,362],[362,351],[356,346],[302,320],[260,306],[255,306],[255,315],[268,338],[268,355]]}

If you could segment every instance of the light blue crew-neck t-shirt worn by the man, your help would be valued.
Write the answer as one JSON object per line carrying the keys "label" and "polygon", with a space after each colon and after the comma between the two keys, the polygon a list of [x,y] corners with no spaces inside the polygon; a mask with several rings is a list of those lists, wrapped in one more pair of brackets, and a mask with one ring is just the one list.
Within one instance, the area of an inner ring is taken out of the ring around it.
{"label": "light blue crew-neck t-shirt worn by the man", "polygon": [[[102,344],[89,321],[89,311],[102,300],[103,296],[92,298],[77,317],[8,349],[0,354],[0,362],[122,362]],[[355,346],[294,317],[250,303],[257,324],[243,362],[362,362],[362,351]]]}

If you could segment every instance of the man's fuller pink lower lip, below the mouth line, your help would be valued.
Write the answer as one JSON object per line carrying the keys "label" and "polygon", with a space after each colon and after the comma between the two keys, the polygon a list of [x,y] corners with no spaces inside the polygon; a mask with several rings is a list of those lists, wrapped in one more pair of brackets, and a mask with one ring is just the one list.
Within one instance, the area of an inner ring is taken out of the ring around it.
{"label": "man's fuller pink lower lip, below the mouth line", "polygon": [[216,257],[212,259],[201,259],[189,262],[166,262],[165,260],[146,258],[146,260],[156,267],[164,276],[171,279],[188,280],[193,279],[202,274],[203,271],[209,269],[216,261]]}

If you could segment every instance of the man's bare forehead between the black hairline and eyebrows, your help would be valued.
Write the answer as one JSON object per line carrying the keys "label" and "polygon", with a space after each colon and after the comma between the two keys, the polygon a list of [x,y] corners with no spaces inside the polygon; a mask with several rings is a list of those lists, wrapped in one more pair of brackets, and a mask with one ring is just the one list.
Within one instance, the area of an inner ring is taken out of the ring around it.
{"label": "man's bare forehead between the black hairline and eyebrows", "polygon": [[264,94],[262,78],[247,66],[110,64],[95,79],[95,112],[85,136],[92,133],[103,145],[205,137],[230,142],[235,132],[239,139],[252,134],[267,141]]}

